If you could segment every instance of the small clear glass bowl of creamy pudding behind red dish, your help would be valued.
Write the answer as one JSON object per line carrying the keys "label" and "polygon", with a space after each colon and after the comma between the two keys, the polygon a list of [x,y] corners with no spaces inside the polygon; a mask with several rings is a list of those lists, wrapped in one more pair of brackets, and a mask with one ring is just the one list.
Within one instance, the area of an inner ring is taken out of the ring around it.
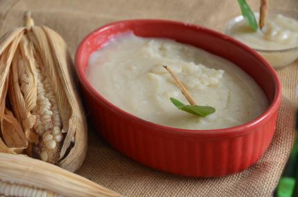
{"label": "small clear glass bowl of creamy pudding behind red dish", "polygon": [[[258,20],[259,15],[255,13]],[[243,16],[227,24],[227,35],[242,41],[260,53],[274,68],[281,68],[298,58],[298,20],[286,14],[270,14],[266,24],[254,32]]]}

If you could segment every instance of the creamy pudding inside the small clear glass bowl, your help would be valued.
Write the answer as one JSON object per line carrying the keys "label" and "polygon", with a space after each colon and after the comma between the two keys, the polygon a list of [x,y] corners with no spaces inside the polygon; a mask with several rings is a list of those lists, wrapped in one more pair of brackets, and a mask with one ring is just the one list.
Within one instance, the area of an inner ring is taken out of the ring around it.
{"label": "creamy pudding inside the small clear glass bowl", "polygon": [[[256,15],[258,21],[259,15]],[[298,46],[298,21],[283,15],[267,17],[265,26],[256,32],[239,17],[229,35],[258,50],[282,50]]]}

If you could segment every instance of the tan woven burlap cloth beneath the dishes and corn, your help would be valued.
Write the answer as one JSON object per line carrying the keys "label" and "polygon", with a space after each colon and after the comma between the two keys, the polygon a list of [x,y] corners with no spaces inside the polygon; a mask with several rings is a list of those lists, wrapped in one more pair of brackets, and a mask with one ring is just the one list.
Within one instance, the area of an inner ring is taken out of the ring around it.
{"label": "tan woven burlap cloth beneath the dishes and corn", "polygon": [[[258,9],[258,0],[247,1]],[[270,0],[270,7],[296,12],[298,17],[297,0]],[[0,34],[21,26],[25,10],[33,12],[36,24],[60,33],[71,55],[91,30],[112,21],[172,19],[223,32],[227,21],[240,13],[236,0],[0,0]],[[263,158],[242,173],[224,178],[184,178],[155,171],[121,155],[89,129],[87,159],[78,174],[126,196],[271,196],[294,140],[298,61],[277,73],[283,84],[277,131]]]}

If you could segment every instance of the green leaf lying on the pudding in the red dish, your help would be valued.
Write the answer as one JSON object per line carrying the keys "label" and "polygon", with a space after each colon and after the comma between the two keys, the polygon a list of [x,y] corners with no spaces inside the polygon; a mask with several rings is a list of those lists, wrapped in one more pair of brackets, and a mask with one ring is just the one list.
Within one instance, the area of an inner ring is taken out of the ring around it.
{"label": "green leaf lying on the pudding in the red dish", "polygon": [[194,115],[199,115],[202,117],[205,117],[211,113],[214,113],[216,109],[214,109],[212,106],[199,106],[199,105],[189,105],[189,104],[183,104],[182,102],[179,102],[179,100],[170,97],[170,101],[177,107],[177,109],[186,111],[188,113],[192,113]]}

